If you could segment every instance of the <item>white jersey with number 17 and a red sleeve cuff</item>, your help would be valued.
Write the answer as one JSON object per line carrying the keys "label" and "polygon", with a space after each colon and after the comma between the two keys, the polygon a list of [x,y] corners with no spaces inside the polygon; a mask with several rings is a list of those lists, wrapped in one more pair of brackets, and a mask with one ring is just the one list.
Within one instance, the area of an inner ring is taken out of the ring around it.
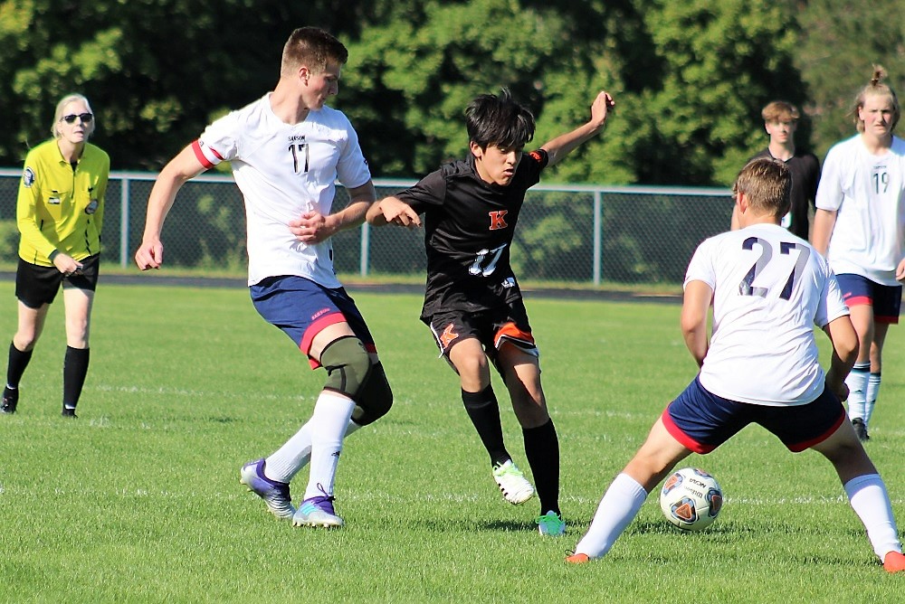
{"label": "white jersey with number 17 and a red sleeve cuff", "polygon": [[338,288],[331,242],[307,245],[289,230],[304,212],[330,213],[336,182],[355,188],[371,175],[346,116],[324,107],[300,124],[274,115],[270,93],[217,119],[193,144],[207,168],[232,163],[245,200],[248,284],[296,275]]}

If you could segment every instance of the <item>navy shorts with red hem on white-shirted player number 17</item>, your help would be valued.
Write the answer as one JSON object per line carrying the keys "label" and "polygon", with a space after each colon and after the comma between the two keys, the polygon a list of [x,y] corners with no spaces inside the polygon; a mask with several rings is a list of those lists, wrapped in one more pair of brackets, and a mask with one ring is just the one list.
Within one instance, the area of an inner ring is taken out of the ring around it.
{"label": "navy shorts with red hem on white-shirted player number 17", "polygon": [[[323,288],[307,278],[283,276],[265,278],[249,292],[264,320],[289,335],[304,354],[310,353],[315,335],[338,323],[348,323],[365,350],[377,352],[364,317],[344,288]],[[309,362],[313,369],[320,366],[310,355]]]}

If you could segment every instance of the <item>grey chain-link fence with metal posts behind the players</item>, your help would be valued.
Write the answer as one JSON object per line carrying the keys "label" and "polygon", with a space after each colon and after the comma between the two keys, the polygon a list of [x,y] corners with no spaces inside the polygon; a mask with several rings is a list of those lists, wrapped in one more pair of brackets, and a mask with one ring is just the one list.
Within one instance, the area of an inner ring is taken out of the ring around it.
{"label": "grey chain-link fence with metal posts behind the players", "polygon": [[[21,171],[0,170],[0,260],[15,261],[15,199]],[[103,258],[123,267],[141,241],[154,174],[110,175]],[[378,198],[414,183],[376,180]],[[335,207],[348,202],[337,190]],[[519,215],[512,263],[523,282],[550,286],[678,284],[704,238],[729,227],[728,189],[538,184]],[[201,175],[180,190],[164,228],[167,266],[245,269],[242,196],[225,175]],[[423,278],[424,232],[395,226],[338,233],[341,275]]]}

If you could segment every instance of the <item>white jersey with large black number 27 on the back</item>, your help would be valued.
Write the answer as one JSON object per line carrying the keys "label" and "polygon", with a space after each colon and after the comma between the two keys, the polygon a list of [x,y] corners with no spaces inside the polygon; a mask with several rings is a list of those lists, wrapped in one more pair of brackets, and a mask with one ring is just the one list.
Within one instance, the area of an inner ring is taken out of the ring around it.
{"label": "white jersey with large black number 27 on the back", "polygon": [[703,241],[685,285],[713,290],[713,330],[700,383],[725,399],[800,405],[824,389],[814,338],[848,315],[833,271],[807,241],[755,224]]}

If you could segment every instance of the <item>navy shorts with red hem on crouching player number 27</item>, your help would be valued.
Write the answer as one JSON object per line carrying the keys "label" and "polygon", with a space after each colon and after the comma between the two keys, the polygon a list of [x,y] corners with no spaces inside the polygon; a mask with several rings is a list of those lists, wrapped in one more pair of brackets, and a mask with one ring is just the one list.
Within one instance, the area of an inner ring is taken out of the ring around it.
{"label": "navy shorts with red hem on crouching player number 27", "polygon": [[760,424],[795,453],[828,439],[845,420],[843,404],[824,389],[805,405],[767,407],[729,401],[694,378],[663,411],[663,425],[686,448],[710,453],[750,423]]}

